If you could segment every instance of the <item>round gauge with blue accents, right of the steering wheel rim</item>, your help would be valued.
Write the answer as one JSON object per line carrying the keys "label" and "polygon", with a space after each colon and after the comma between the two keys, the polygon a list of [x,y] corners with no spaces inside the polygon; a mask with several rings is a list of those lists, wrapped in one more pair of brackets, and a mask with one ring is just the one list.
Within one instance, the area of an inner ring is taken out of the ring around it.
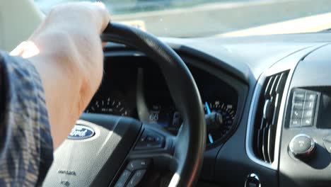
{"label": "round gauge with blue accents, right of the steering wheel rim", "polygon": [[220,113],[222,116],[222,125],[217,130],[207,132],[207,139],[210,144],[216,140],[221,140],[226,137],[228,132],[233,127],[233,120],[236,115],[236,108],[232,104],[221,103],[220,101],[213,101],[204,103],[204,113],[210,114],[212,112]]}

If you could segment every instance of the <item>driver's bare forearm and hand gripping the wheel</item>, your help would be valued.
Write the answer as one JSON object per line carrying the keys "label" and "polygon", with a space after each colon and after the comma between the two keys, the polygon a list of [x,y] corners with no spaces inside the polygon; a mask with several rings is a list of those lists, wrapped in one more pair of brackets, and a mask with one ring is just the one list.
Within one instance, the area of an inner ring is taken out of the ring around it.
{"label": "driver's bare forearm and hand gripping the wheel", "polygon": [[100,33],[109,21],[100,18],[107,13],[98,15],[95,9],[66,14],[62,8],[68,9],[52,11],[20,54],[28,57],[42,79],[54,147],[69,134],[100,85]]}

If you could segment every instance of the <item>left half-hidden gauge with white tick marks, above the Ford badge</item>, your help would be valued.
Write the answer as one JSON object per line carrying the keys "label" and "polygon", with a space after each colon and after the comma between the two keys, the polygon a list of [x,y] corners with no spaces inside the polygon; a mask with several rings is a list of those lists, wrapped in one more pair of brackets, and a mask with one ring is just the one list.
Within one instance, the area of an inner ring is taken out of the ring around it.
{"label": "left half-hidden gauge with white tick marks, above the Ford badge", "polygon": [[96,99],[86,109],[86,113],[103,113],[112,115],[129,115],[122,101],[112,98]]}

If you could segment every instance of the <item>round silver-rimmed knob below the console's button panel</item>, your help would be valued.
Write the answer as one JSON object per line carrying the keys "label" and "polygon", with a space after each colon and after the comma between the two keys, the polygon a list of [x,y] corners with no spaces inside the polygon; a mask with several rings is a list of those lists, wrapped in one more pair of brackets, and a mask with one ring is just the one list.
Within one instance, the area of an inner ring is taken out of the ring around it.
{"label": "round silver-rimmed knob below the console's button panel", "polygon": [[296,135],[289,143],[289,152],[297,159],[308,160],[313,156],[314,151],[315,142],[308,135]]}

